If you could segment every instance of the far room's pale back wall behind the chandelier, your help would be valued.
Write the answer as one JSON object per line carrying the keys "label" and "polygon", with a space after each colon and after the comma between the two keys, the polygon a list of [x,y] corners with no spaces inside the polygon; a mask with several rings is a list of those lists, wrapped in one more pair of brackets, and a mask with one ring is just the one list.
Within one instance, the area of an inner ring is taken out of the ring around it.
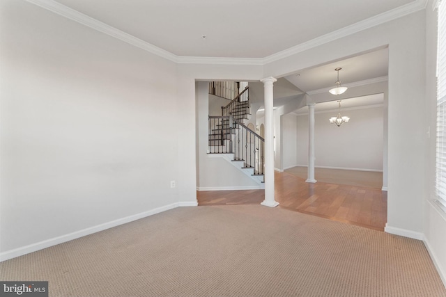
{"label": "far room's pale back wall behind the chandelier", "polygon": [[[341,109],[342,115],[350,117],[341,127],[328,120],[337,110],[317,109],[318,104],[314,115],[316,167],[383,170],[383,107]],[[308,166],[308,115],[297,118],[297,163]]]}

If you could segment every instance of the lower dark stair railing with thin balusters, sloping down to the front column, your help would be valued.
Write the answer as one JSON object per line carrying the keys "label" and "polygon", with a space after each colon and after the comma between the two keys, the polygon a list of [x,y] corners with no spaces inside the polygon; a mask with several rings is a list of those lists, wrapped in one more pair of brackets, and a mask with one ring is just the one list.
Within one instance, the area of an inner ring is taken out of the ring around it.
{"label": "lower dark stair railing with thin balusters, sloping down to the front column", "polygon": [[232,115],[209,116],[209,154],[234,154],[234,161],[244,161],[244,168],[254,168],[263,175],[265,140]]}

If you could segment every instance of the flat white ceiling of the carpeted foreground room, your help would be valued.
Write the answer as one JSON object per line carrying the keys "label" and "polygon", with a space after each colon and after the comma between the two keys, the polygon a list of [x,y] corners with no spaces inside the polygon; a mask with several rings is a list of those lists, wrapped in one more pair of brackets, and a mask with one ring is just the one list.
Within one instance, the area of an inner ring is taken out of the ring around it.
{"label": "flat white ceiling of the carpeted foreground room", "polygon": [[[33,0],[38,1],[38,0]],[[39,0],[40,1],[40,0]],[[46,1],[47,2],[47,1]],[[176,56],[265,58],[423,0],[56,0]],[[206,38],[203,38],[206,35]]]}

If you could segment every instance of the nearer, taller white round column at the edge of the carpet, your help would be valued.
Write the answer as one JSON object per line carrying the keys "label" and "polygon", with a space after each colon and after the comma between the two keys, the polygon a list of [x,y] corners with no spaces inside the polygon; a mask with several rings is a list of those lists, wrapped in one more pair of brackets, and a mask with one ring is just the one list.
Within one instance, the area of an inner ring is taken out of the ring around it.
{"label": "nearer, taller white round column at the edge of the carpet", "polygon": [[273,94],[272,83],[277,81],[274,77],[262,79],[265,89],[265,200],[261,202],[267,207],[276,207],[279,205],[274,199],[274,134],[273,134]]}

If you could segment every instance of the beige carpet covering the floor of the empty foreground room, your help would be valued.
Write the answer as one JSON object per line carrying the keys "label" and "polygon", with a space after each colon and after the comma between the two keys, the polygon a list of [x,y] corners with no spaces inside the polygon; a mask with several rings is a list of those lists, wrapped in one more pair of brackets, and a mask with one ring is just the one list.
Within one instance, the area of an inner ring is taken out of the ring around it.
{"label": "beige carpet covering the floor of the empty foreground room", "polygon": [[446,296],[422,241],[261,205],[172,209],[0,275],[49,296]]}

